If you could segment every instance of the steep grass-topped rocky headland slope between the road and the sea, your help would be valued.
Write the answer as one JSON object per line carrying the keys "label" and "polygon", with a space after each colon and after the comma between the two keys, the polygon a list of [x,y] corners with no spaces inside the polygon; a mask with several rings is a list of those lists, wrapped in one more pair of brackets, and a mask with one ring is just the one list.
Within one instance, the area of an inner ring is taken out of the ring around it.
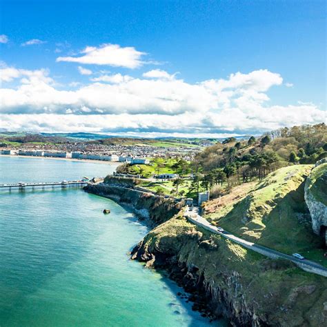
{"label": "steep grass-topped rocky headland slope between the road and the sea", "polygon": [[132,258],[168,270],[196,309],[206,304],[234,326],[327,324],[326,278],[210,235],[182,215],[152,230]]}

